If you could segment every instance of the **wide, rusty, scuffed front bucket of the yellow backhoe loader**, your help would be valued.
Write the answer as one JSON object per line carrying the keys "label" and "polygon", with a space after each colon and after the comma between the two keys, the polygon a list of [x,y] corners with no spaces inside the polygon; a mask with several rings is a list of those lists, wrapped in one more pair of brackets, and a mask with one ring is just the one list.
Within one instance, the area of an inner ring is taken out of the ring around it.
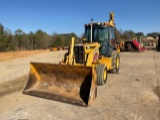
{"label": "wide, rusty, scuffed front bucket of the yellow backhoe loader", "polygon": [[93,67],[30,63],[23,94],[88,106],[97,96]]}

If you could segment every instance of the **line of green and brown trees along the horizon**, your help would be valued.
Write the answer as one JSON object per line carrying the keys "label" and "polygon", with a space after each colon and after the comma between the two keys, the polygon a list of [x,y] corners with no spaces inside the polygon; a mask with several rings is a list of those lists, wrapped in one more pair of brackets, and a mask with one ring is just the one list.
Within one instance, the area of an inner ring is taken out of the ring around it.
{"label": "line of green and brown trees along the horizon", "polygon": [[[148,33],[146,36],[156,38],[159,34],[158,32],[153,32]],[[118,40],[145,37],[143,32],[135,33],[132,30],[123,31],[122,29],[116,29],[115,36]],[[70,44],[71,37],[75,37],[75,43],[81,40],[75,33],[71,33],[68,37],[63,37],[57,33],[49,35],[40,29],[36,32],[31,31],[28,34],[21,29],[17,29],[12,33],[11,30],[4,28],[0,23],[0,52],[64,47]],[[83,37],[83,34],[81,37]]]}

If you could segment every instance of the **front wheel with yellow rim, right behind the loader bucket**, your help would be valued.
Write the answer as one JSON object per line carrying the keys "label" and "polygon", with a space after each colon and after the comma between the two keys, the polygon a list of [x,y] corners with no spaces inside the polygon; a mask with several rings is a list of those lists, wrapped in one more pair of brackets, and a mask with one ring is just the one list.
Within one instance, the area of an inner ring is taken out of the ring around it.
{"label": "front wheel with yellow rim, right behind the loader bucket", "polygon": [[104,85],[107,81],[107,67],[106,67],[106,65],[105,64],[98,64],[96,66],[96,73],[97,73],[97,85]]}

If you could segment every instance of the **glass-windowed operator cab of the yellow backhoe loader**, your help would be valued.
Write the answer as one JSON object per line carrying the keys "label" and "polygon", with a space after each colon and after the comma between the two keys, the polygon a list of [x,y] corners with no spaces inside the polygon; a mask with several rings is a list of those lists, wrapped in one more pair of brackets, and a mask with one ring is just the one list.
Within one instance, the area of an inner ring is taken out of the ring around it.
{"label": "glass-windowed operator cab of the yellow backhoe loader", "polygon": [[92,40],[91,40],[91,24],[85,25],[84,43],[98,42],[100,44],[99,52],[104,56],[111,56],[113,51],[113,43],[115,42],[114,27],[106,25],[106,23],[92,23]]}

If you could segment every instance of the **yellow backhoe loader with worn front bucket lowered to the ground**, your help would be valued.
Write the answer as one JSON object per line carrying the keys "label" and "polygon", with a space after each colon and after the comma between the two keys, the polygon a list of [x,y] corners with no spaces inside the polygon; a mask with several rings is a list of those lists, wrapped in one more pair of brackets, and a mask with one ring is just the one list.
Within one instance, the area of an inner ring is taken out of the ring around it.
{"label": "yellow backhoe loader with worn front bucket lowered to the ground", "polygon": [[109,22],[85,24],[81,44],[71,40],[60,64],[30,63],[23,93],[65,103],[89,106],[104,85],[108,71],[118,73],[120,56],[115,44],[114,13]]}

